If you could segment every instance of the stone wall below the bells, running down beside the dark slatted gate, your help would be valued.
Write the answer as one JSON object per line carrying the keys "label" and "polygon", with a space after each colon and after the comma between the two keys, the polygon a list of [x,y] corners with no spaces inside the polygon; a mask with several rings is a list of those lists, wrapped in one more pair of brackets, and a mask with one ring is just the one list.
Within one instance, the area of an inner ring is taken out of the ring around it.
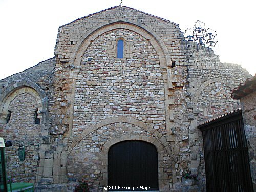
{"label": "stone wall below the bells, running down beside the dark slatted gate", "polygon": [[194,172],[194,168],[198,167],[200,180],[205,183],[202,134],[196,127],[206,120],[239,108],[240,102],[231,98],[230,91],[249,74],[241,65],[221,63],[212,49],[188,41],[184,41],[183,45],[188,66],[187,94],[191,99],[187,107],[192,112],[189,143],[195,143],[191,148],[191,157],[196,154],[199,157],[197,161],[191,161],[194,166],[190,170]]}

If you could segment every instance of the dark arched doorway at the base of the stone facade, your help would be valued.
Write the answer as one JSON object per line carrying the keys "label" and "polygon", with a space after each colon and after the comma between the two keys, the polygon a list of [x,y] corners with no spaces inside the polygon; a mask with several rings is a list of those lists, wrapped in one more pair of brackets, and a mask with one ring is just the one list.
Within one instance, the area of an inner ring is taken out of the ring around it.
{"label": "dark arched doorway at the base of the stone facade", "polygon": [[122,141],[111,146],[108,153],[108,185],[120,186],[109,191],[158,190],[156,147],[138,140]]}

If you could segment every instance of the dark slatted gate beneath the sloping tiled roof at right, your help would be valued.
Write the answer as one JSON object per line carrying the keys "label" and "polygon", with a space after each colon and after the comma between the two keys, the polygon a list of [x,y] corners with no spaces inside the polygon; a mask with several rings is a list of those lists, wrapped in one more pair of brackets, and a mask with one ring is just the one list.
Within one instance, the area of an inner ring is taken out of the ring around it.
{"label": "dark slatted gate beneath the sloping tiled roof at right", "polygon": [[203,133],[207,191],[253,191],[241,110],[198,128]]}

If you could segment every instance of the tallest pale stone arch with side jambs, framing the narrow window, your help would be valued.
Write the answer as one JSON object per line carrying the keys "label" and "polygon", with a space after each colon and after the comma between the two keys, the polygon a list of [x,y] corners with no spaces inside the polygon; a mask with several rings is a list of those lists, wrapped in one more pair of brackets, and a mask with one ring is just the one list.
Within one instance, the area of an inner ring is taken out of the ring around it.
{"label": "tallest pale stone arch with side jambs, framing the narrow window", "polygon": [[[150,44],[155,49],[159,64],[160,64],[160,72],[163,76],[164,80],[164,93],[165,93],[165,99],[168,100],[168,89],[172,88],[172,82],[170,79],[171,73],[168,69],[168,66],[171,65],[171,56],[170,53],[163,42],[163,40],[160,38],[160,36],[154,32],[152,29],[148,28],[145,25],[138,24],[134,20],[129,19],[118,19],[118,20],[111,20],[109,22],[103,22],[100,25],[98,25],[95,28],[92,28],[89,30],[86,34],[84,34],[83,37],[81,37],[77,44],[72,49],[72,53],[70,55],[69,59],[69,65],[71,66],[70,69],[70,78],[73,80],[73,83],[70,85],[71,90],[71,96],[70,98],[75,98],[75,90],[76,90],[76,79],[80,72],[81,66],[81,59],[84,54],[84,52],[87,50],[89,45],[92,41],[94,41],[97,37],[104,34],[105,32],[114,30],[114,29],[127,29],[134,31],[144,37],[145,39],[150,42]],[[74,114],[74,99],[70,99],[70,119],[69,119],[69,135],[71,136],[71,130],[73,125],[73,114]],[[168,114],[168,104],[165,103],[165,113]],[[169,116],[166,115],[166,130],[169,134],[170,131],[170,125],[169,125]]]}

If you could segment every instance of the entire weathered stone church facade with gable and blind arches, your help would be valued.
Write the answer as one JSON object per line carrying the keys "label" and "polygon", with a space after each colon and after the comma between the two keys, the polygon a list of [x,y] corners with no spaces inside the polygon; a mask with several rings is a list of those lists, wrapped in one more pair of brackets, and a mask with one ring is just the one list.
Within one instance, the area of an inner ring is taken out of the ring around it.
{"label": "entire weathered stone church facade with gable and blind arches", "polygon": [[168,20],[125,6],[79,18],[59,27],[55,57],[0,81],[8,174],[38,191],[73,191],[82,178],[104,191],[110,148],[137,140],[157,149],[159,191],[203,191],[196,127],[238,108],[229,92],[248,75]]}

